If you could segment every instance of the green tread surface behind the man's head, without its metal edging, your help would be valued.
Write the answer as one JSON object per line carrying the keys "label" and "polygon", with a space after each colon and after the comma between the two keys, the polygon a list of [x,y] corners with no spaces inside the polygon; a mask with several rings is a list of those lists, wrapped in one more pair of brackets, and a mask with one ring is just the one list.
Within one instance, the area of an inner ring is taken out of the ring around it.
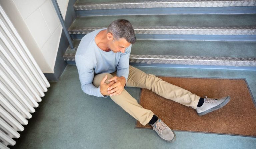
{"label": "green tread surface behind the man's head, without its metal edging", "polygon": [[77,17],[69,30],[87,27],[107,27],[117,19],[127,19],[134,27],[250,27],[256,26],[256,14],[238,15],[126,15]]}

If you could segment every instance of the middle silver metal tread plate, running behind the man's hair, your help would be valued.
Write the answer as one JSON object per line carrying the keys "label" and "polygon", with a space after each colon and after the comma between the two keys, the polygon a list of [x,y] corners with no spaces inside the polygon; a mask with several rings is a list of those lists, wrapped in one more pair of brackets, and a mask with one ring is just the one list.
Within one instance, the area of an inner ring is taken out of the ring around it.
{"label": "middle silver metal tread plate, running behind the man's hair", "polygon": [[[70,28],[69,34],[88,34],[106,27]],[[149,26],[133,27],[135,34],[192,34],[192,35],[256,35],[256,27],[177,27]]]}

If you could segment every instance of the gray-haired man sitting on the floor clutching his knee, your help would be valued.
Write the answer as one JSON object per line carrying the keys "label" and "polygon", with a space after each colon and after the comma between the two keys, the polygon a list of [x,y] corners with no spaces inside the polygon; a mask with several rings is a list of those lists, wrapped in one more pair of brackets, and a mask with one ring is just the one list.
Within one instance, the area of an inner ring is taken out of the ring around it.
{"label": "gray-haired man sitting on the floor clutching his knee", "polygon": [[152,74],[129,66],[129,56],[136,37],[131,23],[119,19],[107,29],[85,35],[76,52],[76,65],[82,90],[89,95],[110,98],[142,125],[150,124],[165,141],[173,142],[175,133],[151,110],[144,109],[125,89],[141,87],[196,109],[199,116],[225,106],[230,97],[201,98],[191,92],[167,83]]}

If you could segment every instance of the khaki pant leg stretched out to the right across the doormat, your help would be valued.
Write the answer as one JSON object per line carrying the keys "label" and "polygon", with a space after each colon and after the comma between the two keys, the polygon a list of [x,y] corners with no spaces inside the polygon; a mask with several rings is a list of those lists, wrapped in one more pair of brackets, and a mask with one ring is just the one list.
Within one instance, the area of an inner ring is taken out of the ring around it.
{"label": "khaki pant leg stretched out to the right across the doormat", "polygon": [[141,87],[152,90],[154,93],[166,98],[171,99],[185,106],[190,106],[196,109],[200,97],[192,94],[191,92],[163,81],[152,74],[130,66],[127,86]]}

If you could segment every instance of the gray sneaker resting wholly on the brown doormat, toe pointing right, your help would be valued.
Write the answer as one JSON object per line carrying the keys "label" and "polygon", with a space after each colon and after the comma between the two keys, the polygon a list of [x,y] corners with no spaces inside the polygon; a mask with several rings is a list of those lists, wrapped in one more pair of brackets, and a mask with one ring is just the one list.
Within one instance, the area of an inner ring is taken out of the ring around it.
{"label": "gray sneaker resting wholly on the brown doormat, toe pointing right", "polygon": [[202,116],[212,111],[220,109],[221,107],[225,106],[229,101],[229,96],[222,97],[220,99],[207,98],[207,96],[205,96],[203,105],[201,107],[197,107],[196,112],[199,116]]}

